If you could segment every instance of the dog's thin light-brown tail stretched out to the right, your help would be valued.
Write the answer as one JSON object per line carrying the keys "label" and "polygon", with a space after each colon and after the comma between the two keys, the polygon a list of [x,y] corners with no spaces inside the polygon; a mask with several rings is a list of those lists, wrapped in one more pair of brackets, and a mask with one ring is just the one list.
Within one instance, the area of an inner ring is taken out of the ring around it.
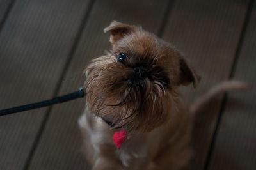
{"label": "dog's thin light-brown tail stretched out to the right", "polygon": [[226,91],[234,91],[234,90],[248,90],[251,89],[250,84],[242,81],[224,81],[220,84],[217,84],[213,88],[209,89],[207,93],[199,97],[189,108],[190,112],[195,115],[197,112],[200,112],[204,109],[204,106],[211,102],[214,97],[225,93]]}

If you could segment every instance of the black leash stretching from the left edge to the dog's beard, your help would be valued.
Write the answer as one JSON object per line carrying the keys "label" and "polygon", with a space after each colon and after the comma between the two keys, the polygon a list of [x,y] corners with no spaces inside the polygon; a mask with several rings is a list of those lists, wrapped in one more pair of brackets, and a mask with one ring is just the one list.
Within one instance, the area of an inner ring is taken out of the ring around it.
{"label": "black leash stretching from the left edge to the dog's beard", "polygon": [[34,104],[27,104],[27,105],[21,105],[18,107],[12,107],[10,109],[4,109],[0,111],[0,116],[4,116],[7,114],[13,114],[15,112],[23,112],[23,111],[28,111],[31,109],[36,109],[36,108],[40,108],[40,107],[45,107],[45,106],[49,106],[49,105],[53,105],[53,104],[59,104],[59,103],[63,103],[63,102],[67,102],[69,100],[74,100],[76,98],[80,98],[80,97],[84,97],[84,89],[83,88],[79,88],[78,91],[74,92],[74,93],[69,93],[67,95],[63,95],[60,97],[55,97],[52,98],[51,100],[45,100],[42,102],[36,102]]}

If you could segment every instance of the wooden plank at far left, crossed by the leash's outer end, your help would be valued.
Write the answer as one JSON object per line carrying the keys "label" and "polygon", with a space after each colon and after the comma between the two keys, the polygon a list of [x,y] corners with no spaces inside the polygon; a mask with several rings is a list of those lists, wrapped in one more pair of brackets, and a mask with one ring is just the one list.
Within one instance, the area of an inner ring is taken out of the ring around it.
{"label": "wooden plank at far left, crossed by the leash's outer end", "polygon": [[[16,1],[0,35],[0,108],[53,97],[88,1]],[[0,118],[0,169],[22,169],[47,108]]]}

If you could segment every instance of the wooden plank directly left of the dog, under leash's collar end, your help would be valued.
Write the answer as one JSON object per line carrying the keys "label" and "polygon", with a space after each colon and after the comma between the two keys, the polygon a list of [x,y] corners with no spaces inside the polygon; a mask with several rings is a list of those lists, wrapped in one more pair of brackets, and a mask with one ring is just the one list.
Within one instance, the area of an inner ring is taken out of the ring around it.
{"label": "wooden plank directly left of the dog, under leash's collar end", "polygon": [[[104,34],[103,29],[112,20],[141,24],[157,33],[167,4],[167,0],[162,3],[157,0],[95,1],[65,82],[61,84],[60,94],[82,86],[82,72],[88,61],[104,54],[104,50],[110,47],[109,34]],[[30,169],[86,169],[86,160],[80,150],[82,137],[77,125],[84,103],[84,100],[76,100],[54,106]]]}

